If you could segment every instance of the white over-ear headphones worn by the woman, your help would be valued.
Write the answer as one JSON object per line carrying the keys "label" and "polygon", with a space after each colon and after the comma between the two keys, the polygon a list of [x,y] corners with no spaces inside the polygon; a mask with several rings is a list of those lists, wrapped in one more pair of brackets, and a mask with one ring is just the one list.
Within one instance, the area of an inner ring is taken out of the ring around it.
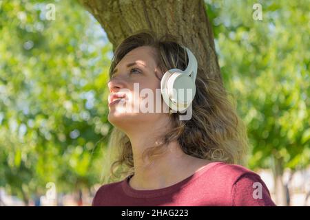
{"label": "white over-ear headphones worn by the woman", "polygon": [[[169,69],[161,79],[161,94],[167,106],[174,111],[184,111],[194,100],[196,94],[195,80],[197,76],[197,60],[194,54],[182,46],[188,56],[188,65],[185,70]],[[187,89],[192,96],[187,97]]]}

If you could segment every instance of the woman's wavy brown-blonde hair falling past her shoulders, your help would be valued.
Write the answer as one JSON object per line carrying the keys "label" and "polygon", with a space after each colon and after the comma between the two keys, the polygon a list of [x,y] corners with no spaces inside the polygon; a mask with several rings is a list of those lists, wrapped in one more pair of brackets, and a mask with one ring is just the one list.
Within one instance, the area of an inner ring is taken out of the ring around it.
{"label": "woman's wavy brown-blonde hair falling past her shoulders", "polygon": [[[143,31],[129,36],[116,47],[110,76],[118,62],[128,52],[141,46],[155,49],[154,58],[163,73],[168,69],[187,67],[187,53],[180,47],[176,36],[166,34],[158,38],[154,32]],[[223,85],[209,78],[204,69],[198,65],[192,118],[179,120],[179,113],[172,113],[170,115],[172,129],[162,137],[158,137],[156,145],[147,148],[143,157],[146,156],[152,161],[167,150],[167,144],[177,140],[183,152],[188,155],[214,162],[245,165],[247,132],[245,124],[236,113],[235,103],[234,98],[229,101],[229,93],[225,91]],[[114,181],[115,177],[120,179],[124,174],[133,175],[132,145],[127,135],[114,127],[107,148],[106,161],[110,167],[110,175],[105,175],[107,177],[105,182]]]}

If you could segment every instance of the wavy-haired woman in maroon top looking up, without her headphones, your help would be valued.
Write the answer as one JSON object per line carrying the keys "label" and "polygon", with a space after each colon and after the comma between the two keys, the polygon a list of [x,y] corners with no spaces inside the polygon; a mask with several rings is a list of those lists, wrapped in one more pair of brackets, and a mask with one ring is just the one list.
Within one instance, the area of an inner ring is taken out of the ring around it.
{"label": "wavy-haired woman in maroon top looking up, without her headphones", "polygon": [[146,99],[158,102],[139,91],[156,94],[167,70],[187,65],[187,52],[172,35],[141,32],[116,48],[108,120],[114,125],[110,147],[120,150],[112,173],[117,168],[125,178],[101,186],[93,206],[275,206],[260,176],[236,165],[245,163],[245,126],[223,85],[199,64],[189,120],[171,109],[141,111]]}

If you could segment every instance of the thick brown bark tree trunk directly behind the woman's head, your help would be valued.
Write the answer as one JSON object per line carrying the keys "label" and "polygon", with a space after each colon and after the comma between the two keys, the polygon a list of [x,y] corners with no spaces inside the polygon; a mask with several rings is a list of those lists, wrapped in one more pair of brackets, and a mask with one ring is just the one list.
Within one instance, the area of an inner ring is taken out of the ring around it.
{"label": "thick brown bark tree trunk directly behind the woman's head", "polygon": [[196,55],[208,78],[223,85],[214,37],[203,0],[79,0],[101,23],[113,45],[141,30],[179,38]]}

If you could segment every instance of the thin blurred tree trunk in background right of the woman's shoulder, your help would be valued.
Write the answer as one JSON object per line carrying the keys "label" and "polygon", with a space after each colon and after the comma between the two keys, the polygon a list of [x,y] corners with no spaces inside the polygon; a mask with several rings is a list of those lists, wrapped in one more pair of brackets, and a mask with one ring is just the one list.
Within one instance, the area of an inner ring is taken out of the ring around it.
{"label": "thin blurred tree trunk in background right of the woman's shoulder", "polygon": [[277,206],[287,206],[286,190],[283,184],[283,158],[273,156],[273,179]]}

